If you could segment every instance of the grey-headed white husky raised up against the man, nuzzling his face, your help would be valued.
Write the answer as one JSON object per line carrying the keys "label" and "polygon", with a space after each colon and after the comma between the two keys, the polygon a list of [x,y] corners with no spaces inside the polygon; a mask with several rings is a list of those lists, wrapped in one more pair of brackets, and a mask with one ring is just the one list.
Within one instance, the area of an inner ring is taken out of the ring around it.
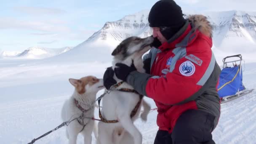
{"label": "grey-headed white husky raised up against the man, nuzzling his face", "polygon": [[[123,40],[123,42],[121,42],[112,52],[112,56],[114,56],[112,69],[116,67],[116,63],[123,63],[128,66],[134,63],[139,72],[145,72],[143,69],[142,55],[151,48],[149,45],[153,40],[153,37],[128,37]],[[114,79],[117,83],[122,81],[117,79],[115,75]],[[122,83],[115,90],[103,97],[102,117],[107,120],[118,120],[118,123],[99,122],[98,144],[123,144],[122,138],[125,133],[131,135],[130,137],[133,138],[132,141],[134,144],[142,143],[142,135],[133,124],[133,121],[139,117],[141,105],[144,107],[144,112],[141,114],[141,118],[146,121],[150,106],[142,99],[136,114],[131,117],[131,112],[139,102],[140,96],[138,93],[118,91],[120,88],[133,90],[128,83]]]}

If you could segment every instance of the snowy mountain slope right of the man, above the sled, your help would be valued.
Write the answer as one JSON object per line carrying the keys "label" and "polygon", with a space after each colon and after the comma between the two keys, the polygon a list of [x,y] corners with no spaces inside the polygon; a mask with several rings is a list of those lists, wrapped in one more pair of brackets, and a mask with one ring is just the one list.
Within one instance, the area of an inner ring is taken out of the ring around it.
{"label": "snowy mountain slope right of the man, above the sled", "polygon": [[213,25],[213,43],[222,51],[255,51],[256,12],[225,11],[206,13]]}

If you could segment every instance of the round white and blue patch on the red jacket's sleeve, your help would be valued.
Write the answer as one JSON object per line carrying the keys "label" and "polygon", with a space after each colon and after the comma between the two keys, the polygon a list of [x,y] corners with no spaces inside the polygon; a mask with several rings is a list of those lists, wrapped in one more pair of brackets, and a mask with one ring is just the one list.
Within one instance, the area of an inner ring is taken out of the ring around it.
{"label": "round white and blue patch on the red jacket's sleeve", "polygon": [[184,76],[191,76],[195,73],[195,65],[191,61],[185,61],[179,66],[179,72]]}

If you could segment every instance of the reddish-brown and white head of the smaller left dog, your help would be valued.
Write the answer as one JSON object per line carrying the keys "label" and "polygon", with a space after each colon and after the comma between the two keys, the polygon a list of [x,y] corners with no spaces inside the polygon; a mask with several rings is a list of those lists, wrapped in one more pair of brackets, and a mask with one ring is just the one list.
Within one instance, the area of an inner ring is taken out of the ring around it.
{"label": "reddish-brown and white head of the smaller left dog", "polygon": [[80,80],[70,78],[69,82],[75,87],[75,90],[79,94],[97,93],[104,88],[103,79],[98,79],[93,76],[82,77]]}

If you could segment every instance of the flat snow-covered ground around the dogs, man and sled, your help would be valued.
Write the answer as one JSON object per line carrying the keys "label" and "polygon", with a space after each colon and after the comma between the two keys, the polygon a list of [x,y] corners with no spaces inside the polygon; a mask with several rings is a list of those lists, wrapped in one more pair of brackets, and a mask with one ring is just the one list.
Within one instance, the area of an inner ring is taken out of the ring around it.
{"label": "flat snow-covered ground around the dogs, man and sled", "polygon": [[[220,61],[220,60],[219,60]],[[110,61],[75,63],[40,63],[38,60],[0,60],[0,143],[27,144],[62,123],[61,107],[74,89],[69,78],[86,75],[103,77]],[[256,61],[245,63],[243,83],[256,88]],[[103,93],[100,91],[98,96]],[[155,104],[147,99],[152,108]],[[149,114],[147,123],[135,122],[143,135],[143,144],[153,144],[157,132],[157,112]],[[98,117],[98,111],[95,111]],[[213,131],[216,144],[256,144],[256,91],[221,104],[219,125]],[[67,144],[65,130],[36,141],[36,144]],[[79,135],[78,144],[83,144]],[[93,137],[93,144],[95,139]]]}

